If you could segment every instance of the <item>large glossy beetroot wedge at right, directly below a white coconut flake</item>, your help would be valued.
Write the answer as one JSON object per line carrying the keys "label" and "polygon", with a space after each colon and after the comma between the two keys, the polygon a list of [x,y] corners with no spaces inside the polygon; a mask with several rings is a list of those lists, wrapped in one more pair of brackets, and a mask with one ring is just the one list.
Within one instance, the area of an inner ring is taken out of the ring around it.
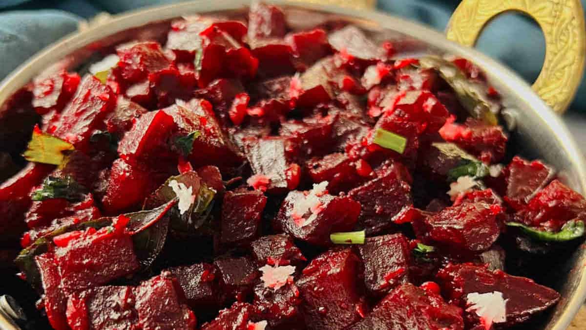
{"label": "large glossy beetroot wedge at right, directly below a white coconut flake", "polygon": [[464,251],[488,250],[499,237],[498,204],[464,203],[444,208],[440,213],[417,217],[413,228],[423,241]]}

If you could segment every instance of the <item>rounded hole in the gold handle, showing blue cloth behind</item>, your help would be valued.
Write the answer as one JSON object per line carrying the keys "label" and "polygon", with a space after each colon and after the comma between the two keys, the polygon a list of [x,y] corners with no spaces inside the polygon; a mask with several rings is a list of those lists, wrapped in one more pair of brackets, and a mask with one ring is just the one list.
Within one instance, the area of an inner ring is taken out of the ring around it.
{"label": "rounded hole in the gold handle, showing blue cloth behind", "polygon": [[482,30],[476,48],[515,70],[532,84],[546,56],[546,41],[539,24],[520,12],[505,12]]}

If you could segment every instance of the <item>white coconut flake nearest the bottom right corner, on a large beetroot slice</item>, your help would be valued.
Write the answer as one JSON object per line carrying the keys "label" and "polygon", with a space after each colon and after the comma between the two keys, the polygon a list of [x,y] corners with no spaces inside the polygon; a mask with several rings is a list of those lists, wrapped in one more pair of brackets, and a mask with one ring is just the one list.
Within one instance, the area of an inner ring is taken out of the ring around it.
{"label": "white coconut flake nearest the bottom right corner, on a large beetroot slice", "polygon": [[507,300],[509,299],[503,299],[503,293],[499,291],[486,292],[485,294],[473,292],[466,295],[466,301],[469,305],[466,311],[475,311],[486,330],[489,330],[493,323],[507,321]]}

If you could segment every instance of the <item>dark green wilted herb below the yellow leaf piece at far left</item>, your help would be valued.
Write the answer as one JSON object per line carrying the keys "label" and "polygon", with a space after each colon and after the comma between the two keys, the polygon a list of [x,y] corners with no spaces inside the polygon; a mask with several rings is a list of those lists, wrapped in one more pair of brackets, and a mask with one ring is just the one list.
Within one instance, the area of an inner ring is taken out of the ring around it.
{"label": "dark green wilted herb below the yellow leaf piece at far left", "polygon": [[49,176],[43,181],[42,186],[33,192],[31,199],[42,201],[50,198],[65,198],[69,201],[81,201],[86,193],[86,188],[69,176],[63,178]]}

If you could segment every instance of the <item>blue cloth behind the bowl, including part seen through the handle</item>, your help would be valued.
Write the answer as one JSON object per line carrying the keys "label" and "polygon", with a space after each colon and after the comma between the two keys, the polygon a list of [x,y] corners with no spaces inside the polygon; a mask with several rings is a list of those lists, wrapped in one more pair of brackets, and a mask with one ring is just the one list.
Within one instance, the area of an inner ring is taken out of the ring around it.
{"label": "blue cloth behind the bowl, including part seen through the handle", "polygon": [[[0,0],[0,79],[38,50],[75,31],[79,19],[91,18],[101,11],[115,14],[171,2],[176,0]],[[458,3],[458,0],[379,0],[378,7],[443,31]],[[530,19],[502,15],[482,33],[477,47],[516,70],[528,82],[539,75],[544,42],[539,26]],[[586,112],[584,80],[571,109]]]}

